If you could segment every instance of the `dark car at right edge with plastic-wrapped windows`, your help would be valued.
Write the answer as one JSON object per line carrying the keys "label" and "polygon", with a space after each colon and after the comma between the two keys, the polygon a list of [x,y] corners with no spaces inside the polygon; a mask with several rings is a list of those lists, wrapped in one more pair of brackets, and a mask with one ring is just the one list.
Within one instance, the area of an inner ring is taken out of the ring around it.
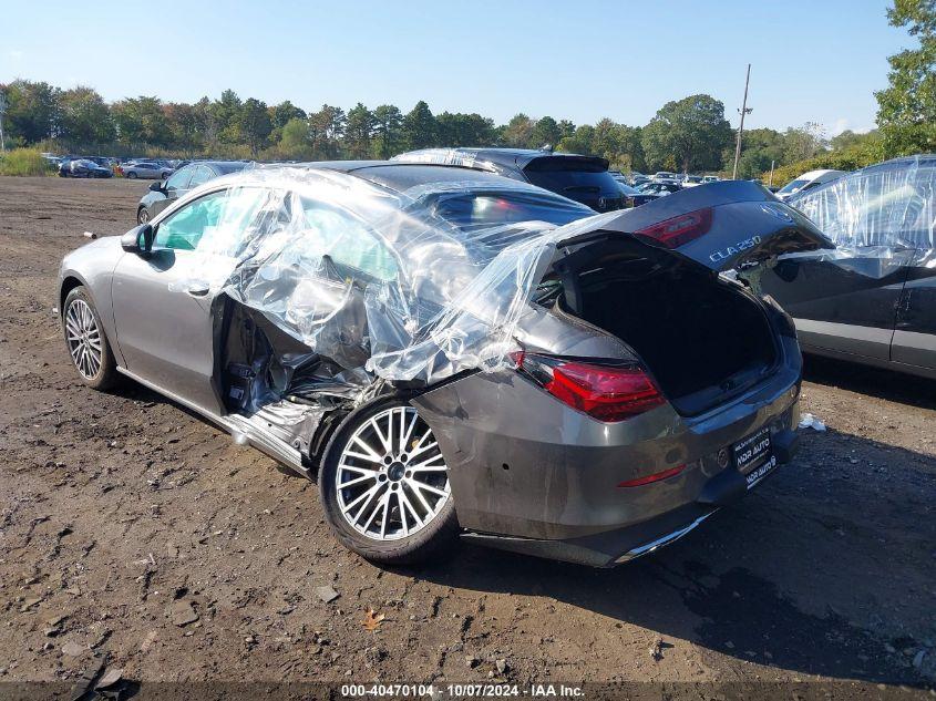
{"label": "dark car at right edge with plastic-wrapped windows", "polygon": [[761,278],[803,350],[936,378],[936,156],[873,165],[789,204],[839,246]]}

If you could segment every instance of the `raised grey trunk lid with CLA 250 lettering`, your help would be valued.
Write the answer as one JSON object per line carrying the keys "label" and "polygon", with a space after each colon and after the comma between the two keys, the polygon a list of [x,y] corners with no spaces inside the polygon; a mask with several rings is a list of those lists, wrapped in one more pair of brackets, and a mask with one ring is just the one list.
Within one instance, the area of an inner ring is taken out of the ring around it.
{"label": "raised grey trunk lid with CLA 250 lettering", "polygon": [[781,254],[835,248],[802,213],[747,181],[700,185],[624,210],[559,247],[585,244],[598,231],[619,233],[671,250],[712,272],[763,262]]}

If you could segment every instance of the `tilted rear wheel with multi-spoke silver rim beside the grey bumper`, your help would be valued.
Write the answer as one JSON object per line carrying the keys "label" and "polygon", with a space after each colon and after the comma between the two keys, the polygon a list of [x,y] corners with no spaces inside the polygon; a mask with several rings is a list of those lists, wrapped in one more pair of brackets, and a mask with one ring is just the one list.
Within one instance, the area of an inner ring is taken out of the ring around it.
{"label": "tilted rear wheel with multi-spoke silver rim beside the grey bumper", "polygon": [[424,561],[457,535],[449,466],[407,402],[380,402],[346,419],[319,488],[339,540],[370,560]]}

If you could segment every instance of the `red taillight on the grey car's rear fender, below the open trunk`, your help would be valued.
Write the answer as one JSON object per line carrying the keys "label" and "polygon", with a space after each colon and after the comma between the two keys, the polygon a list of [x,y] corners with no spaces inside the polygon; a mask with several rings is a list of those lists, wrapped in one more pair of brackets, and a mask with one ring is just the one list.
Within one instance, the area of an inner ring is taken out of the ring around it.
{"label": "red taillight on the grey car's rear fender, below the open trunk", "polygon": [[666,402],[639,365],[594,365],[536,353],[512,357],[549,394],[599,421],[624,421]]}

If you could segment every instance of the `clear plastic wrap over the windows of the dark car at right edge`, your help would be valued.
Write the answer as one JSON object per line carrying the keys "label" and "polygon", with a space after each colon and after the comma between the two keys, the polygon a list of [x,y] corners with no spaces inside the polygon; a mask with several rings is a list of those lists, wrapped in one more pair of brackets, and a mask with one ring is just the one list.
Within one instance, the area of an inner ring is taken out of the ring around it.
{"label": "clear plastic wrap over the windows of the dark car at right edge", "polygon": [[839,247],[831,258],[936,248],[936,156],[896,158],[790,199]]}

